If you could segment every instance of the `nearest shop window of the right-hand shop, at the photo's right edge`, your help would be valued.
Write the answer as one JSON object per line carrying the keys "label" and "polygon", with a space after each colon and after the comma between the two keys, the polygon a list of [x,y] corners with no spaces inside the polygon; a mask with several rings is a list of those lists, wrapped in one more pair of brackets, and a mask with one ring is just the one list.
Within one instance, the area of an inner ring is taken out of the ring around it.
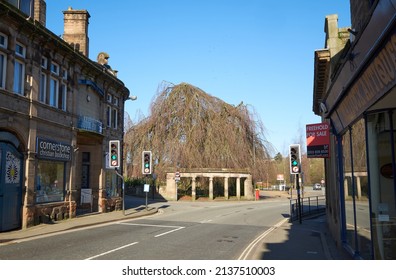
{"label": "nearest shop window of the right-hand shop, at the photo's right edge", "polygon": [[367,116],[371,223],[375,259],[396,259],[395,111]]}

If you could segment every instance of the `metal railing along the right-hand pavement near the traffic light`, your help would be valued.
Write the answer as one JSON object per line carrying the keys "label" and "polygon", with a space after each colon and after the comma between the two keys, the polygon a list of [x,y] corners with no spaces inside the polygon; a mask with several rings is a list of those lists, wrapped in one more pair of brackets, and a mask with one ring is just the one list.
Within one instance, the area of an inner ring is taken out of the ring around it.
{"label": "metal railing along the right-hand pavement near the traffic light", "polygon": [[[298,199],[290,199],[290,221],[298,220]],[[326,196],[301,198],[301,217],[307,217],[326,211]]]}

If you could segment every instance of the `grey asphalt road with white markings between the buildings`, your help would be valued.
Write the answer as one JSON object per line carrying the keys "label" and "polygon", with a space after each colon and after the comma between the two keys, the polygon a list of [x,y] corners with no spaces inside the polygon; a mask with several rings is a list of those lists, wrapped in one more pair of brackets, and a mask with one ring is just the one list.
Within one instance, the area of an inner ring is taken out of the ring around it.
{"label": "grey asphalt road with white markings between the buildings", "polygon": [[289,213],[287,200],[150,206],[159,214],[0,246],[0,259],[235,260]]}

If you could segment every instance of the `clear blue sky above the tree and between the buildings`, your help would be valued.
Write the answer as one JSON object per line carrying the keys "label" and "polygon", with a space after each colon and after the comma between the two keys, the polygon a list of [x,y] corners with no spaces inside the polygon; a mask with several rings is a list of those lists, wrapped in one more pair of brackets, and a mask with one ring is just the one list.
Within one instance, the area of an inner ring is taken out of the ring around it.
{"label": "clear blue sky above the tree and between the buildings", "polygon": [[[312,112],[314,51],[324,47],[324,19],[350,26],[347,0],[47,0],[47,28],[63,34],[68,7],[88,10],[89,57],[109,65],[138,96],[126,111],[148,116],[163,81],[190,83],[259,113],[267,140],[287,154],[305,138]],[[305,144],[305,143],[304,143]]]}

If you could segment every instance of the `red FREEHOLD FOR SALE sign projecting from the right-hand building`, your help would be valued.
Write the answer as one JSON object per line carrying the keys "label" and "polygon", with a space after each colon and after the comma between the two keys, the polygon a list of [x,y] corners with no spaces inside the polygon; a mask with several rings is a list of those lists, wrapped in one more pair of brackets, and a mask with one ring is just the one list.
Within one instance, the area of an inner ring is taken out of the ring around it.
{"label": "red FREEHOLD FOR SALE sign projecting from the right-hand building", "polygon": [[307,157],[330,156],[330,126],[328,123],[307,124]]}

